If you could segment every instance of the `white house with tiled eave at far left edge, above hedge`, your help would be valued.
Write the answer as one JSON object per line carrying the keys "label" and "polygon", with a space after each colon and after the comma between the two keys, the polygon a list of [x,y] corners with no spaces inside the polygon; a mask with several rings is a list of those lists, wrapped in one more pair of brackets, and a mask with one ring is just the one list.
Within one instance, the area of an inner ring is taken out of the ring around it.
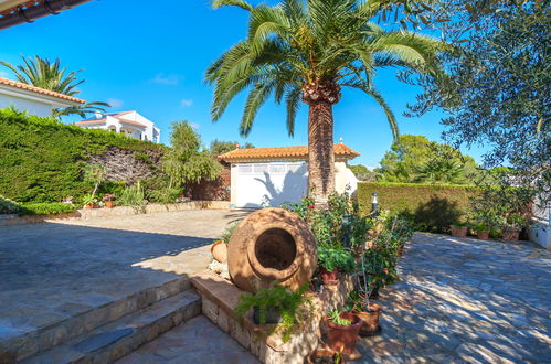
{"label": "white house with tiled eave at far left edge, above hedge", "polygon": [[13,106],[20,111],[49,117],[56,108],[85,103],[73,96],[0,77],[0,109]]}

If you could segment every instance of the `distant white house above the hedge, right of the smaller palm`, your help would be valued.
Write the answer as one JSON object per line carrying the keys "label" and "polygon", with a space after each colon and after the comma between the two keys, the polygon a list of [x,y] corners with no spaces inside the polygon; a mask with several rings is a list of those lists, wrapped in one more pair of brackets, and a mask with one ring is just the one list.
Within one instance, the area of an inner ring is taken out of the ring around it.
{"label": "distant white house above the hedge, right of the smaller palm", "polygon": [[96,113],[94,119],[78,121],[75,125],[85,129],[105,129],[140,140],[160,142],[160,129],[136,111]]}

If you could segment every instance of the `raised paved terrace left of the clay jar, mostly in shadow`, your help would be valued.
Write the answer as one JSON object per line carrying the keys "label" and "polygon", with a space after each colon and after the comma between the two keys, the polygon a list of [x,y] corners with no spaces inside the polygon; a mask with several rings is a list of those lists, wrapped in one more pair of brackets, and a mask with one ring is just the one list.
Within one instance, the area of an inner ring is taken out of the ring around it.
{"label": "raised paved terrace left of the clay jar, mostly in shadow", "polygon": [[244,215],[199,210],[0,226],[0,342],[203,270],[212,238]]}

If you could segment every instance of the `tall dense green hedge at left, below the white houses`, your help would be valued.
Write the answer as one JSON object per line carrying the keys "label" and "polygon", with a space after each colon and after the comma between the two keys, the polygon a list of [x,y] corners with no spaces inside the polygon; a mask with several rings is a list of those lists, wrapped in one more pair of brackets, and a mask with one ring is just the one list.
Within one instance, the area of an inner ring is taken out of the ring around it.
{"label": "tall dense green hedge at left, below the white houses", "polygon": [[20,203],[59,202],[91,192],[83,181],[89,156],[108,147],[162,152],[166,147],[106,130],[82,129],[52,118],[0,109],[0,195]]}

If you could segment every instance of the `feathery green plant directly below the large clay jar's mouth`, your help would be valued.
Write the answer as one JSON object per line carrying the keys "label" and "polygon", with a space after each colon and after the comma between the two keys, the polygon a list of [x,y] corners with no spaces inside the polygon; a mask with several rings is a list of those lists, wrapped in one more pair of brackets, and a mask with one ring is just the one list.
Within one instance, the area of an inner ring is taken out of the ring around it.
{"label": "feathery green plant directly below the large clay jar's mouth", "polygon": [[299,309],[309,302],[305,296],[307,290],[308,283],[296,291],[275,285],[271,288],[261,288],[256,293],[243,293],[235,307],[235,313],[239,318],[243,318],[253,309],[252,317],[255,324],[277,324],[276,330],[282,333],[282,340],[287,342],[298,323]]}

